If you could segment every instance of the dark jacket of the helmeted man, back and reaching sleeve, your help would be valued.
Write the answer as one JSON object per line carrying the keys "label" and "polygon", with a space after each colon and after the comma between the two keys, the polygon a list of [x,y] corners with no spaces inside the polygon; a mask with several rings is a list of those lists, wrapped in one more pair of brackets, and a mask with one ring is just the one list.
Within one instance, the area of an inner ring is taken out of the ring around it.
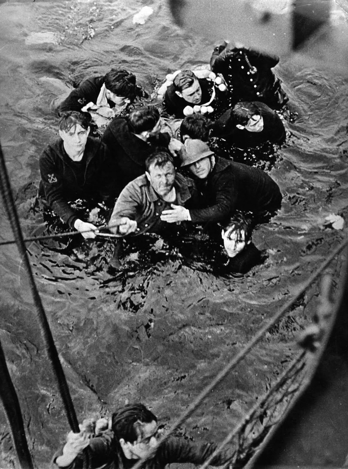
{"label": "dark jacket of the helmeted man, back and reaching sleeve", "polygon": [[190,210],[193,222],[226,221],[236,210],[272,212],[282,196],[276,182],[261,169],[215,156],[215,166],[204,180],[197,180],[200,206]]}

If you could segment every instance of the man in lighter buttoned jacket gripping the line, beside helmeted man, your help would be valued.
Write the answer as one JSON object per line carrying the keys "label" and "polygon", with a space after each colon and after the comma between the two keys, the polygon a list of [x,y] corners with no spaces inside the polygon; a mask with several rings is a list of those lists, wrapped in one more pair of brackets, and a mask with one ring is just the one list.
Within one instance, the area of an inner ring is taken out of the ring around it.
{"label": "man in lighter buttoned jacket gripping the line, beside helmeted man", "polygon": [[[161,214],[175,206],[195,206],[197,191],[192,180],[177,174],[171,155],[166,151],[152,153],[145,162],[145,174],[129,182],[118,197],[109,221],[113,234],[120,236],[158,233],[168,227]],[[116,244],[111,265],[119,267]]]}

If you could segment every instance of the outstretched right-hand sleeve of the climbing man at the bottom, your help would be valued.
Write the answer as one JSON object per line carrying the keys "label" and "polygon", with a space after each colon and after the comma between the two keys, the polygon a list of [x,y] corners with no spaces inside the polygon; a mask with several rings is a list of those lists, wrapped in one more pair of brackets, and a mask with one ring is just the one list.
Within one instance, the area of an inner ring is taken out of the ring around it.
{"label": "outstretched right-hand sleeve of the climbing man at the bottom", "polygon": [[[191,462],[193,464],[203,464],[216,450],[214,443],[193,443],[182,438],[168,438],[159,447],[158,458],[163,464],[173,462]],[[233,453],[225,450],[215,456],[210,463],[212,466],[220,466],[230,461]]]}

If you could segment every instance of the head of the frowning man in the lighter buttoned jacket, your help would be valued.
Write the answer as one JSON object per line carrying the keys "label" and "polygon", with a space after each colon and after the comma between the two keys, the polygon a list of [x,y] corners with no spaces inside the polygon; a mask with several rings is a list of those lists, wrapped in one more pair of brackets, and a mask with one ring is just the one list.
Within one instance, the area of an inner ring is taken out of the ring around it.
{"label": "head of the frowning man in the lighter buttoned jacket", "polygon": [[146,177],[160,197],[166,197],[174,187],[175,167],[166,151],[155,151],[145,161]]}

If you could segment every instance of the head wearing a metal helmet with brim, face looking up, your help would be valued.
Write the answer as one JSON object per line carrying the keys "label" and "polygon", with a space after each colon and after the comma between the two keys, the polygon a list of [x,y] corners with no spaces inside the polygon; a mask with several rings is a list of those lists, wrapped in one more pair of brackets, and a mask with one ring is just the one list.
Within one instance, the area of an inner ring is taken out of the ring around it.
{"label": "head wearing a metal helmet with brim, face looking up", "polygon": [[181,167],[198,179],[205,179],[215,165],[214,152],[202,140],[187,138],[179,151]]}

